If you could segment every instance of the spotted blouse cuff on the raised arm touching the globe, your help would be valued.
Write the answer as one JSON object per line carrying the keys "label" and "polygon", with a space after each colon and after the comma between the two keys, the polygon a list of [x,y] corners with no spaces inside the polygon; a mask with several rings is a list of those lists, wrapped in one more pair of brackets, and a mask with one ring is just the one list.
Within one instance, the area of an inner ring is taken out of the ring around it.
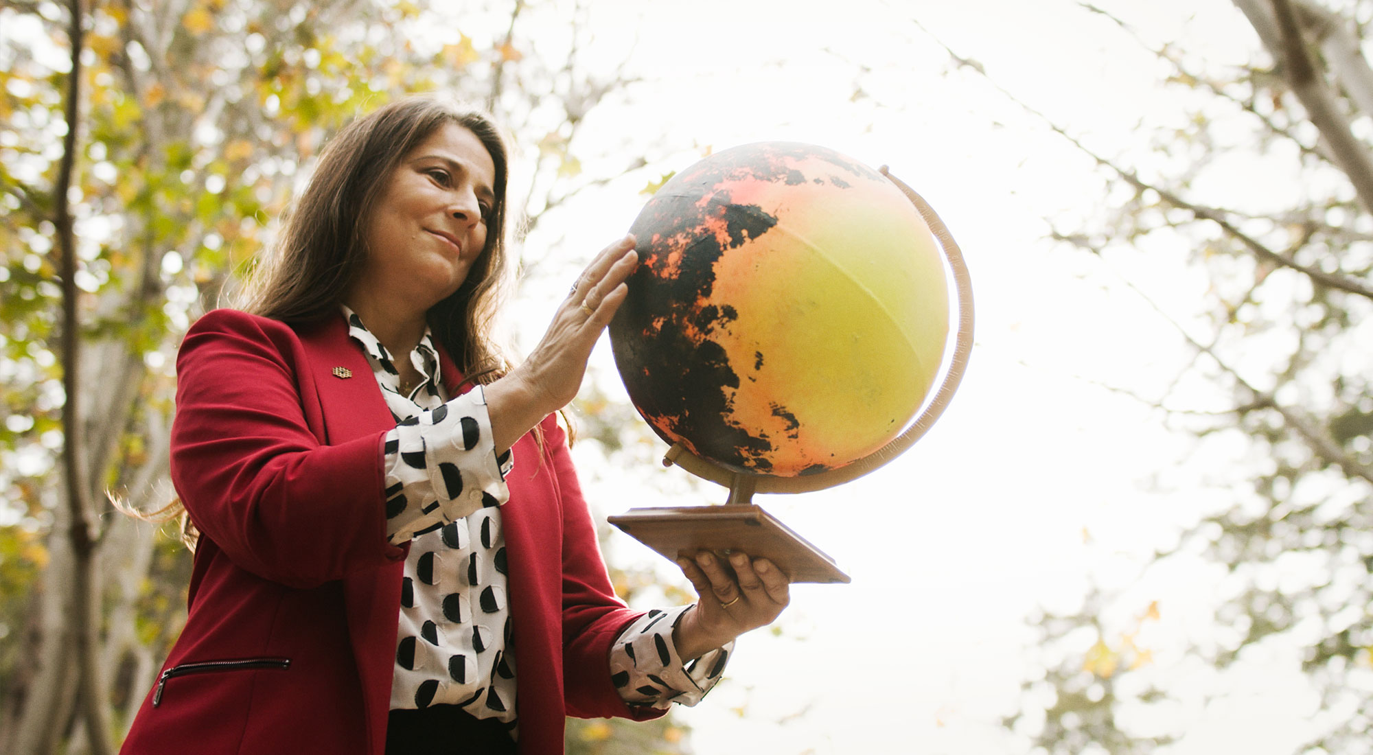
{"label": "spotted blouse cuff on the raised arm touching the globe", "polygon": [[393,545],[509,500],[505,475],[514,454],[496,456],[481,386],[395,426],[383,453]]}

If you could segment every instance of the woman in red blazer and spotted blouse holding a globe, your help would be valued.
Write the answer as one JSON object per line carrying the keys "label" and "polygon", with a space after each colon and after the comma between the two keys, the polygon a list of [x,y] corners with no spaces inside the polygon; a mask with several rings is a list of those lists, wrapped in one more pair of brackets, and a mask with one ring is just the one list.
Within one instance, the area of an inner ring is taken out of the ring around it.
{"label": "woman in red blazer and spotted blouse holding a globe", "polygon": [[692,607],[615,597],[555,415],[634,240],[505,369],[505,184],[483,117],[383,107],[324,151],[246,312],[187,334],[189,615],[125,752],[562,752],[567,714],[693,704],[785,607],[785,575],[744,555],[684,559]]}

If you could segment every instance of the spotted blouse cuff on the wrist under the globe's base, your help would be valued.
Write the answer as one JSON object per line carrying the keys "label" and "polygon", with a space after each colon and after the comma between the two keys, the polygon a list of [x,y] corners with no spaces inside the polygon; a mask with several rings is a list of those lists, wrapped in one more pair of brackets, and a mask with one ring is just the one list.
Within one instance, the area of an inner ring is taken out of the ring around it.
{"label": "spotted blouse cuff on the wrist under the globe's base", "polygon": [[625,627],[611,645],[611,681],[625,703],[654,708],[667,708],[671,703],[691,707],[719,682],[735,649],[733,641],[688,664],[677,655],[673,627],[691,608],[655,608]]}

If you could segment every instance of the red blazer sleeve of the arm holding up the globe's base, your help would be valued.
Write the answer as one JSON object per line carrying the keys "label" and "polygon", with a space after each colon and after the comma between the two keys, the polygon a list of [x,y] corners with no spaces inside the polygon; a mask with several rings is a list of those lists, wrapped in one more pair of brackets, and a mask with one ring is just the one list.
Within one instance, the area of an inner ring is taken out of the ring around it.
{"label": "red blazer sleeve of the arm holding up the globe's base", "polygon": [[567,450],[567,434],[553,417],[545,420],[544,432],[545,463],[551,463],[557,478],[563,508],[563,692],[567,712],[579,718],[658,718],[666,711],[630,707],[611,681],[611,647],[644,612],[627,608],[615,594]]}

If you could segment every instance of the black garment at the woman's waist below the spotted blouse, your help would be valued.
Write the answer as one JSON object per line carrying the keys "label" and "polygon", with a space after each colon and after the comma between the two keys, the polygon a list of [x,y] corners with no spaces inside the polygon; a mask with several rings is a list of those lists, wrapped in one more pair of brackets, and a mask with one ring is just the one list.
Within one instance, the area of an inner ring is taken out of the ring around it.
{"label": "black garment at the woman's waist below the spotted blouse", "polygon": [[386,722],[386,755],[515,755],[515,740],[494,718],[457,706],[394,710]]}

